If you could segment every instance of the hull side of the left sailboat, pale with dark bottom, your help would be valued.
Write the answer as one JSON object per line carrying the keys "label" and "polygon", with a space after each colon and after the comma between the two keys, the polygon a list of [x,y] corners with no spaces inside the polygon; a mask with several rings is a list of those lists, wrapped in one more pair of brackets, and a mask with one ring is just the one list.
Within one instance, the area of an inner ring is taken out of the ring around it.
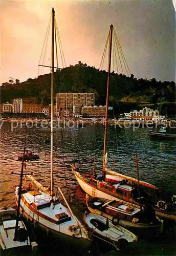
{"label": "hull side of the left sailboat, pale with dark bottom", "polygon": [[[15,197],[17,202],[17,189],[15,188]],[[50,206],[52,207],[52,206]],[[79,230],[71,230],[69,227],[74,226],[75,222],[73,219],[70,219],[67,221],[67,225],[64,226],[64,222],[57,224],[54,219],[49,218],[45,212],[49,210],[50,207],[46,207],[43,210],[43,213],[41,211],[38,211],[37,209],[32,207],[32,204],[28,203],[24,197],[21,197],[20,202],[20,214],[23,215],[24,218],[28,220],[33,226],[35,227],[35,230],[37,231],[43,231],[43,234],[46,236],[49,236],[51,239],[55,239],[57,243],[61,243],[61,241],[69,241],[69,244],[67,246],[75,246],[76,248],[80,247],[80,250],[84,250],[87,247],[90,246],[90,239],[88,237],[88,233],[86,229],[81,225],[80,223],[81,231]],[[62,208],[63,211],[66,211],[67,208],[65,208],[62,204],[58,204],[54,206],[56,208]],[[53,210],[53,209],[52,209]]]}

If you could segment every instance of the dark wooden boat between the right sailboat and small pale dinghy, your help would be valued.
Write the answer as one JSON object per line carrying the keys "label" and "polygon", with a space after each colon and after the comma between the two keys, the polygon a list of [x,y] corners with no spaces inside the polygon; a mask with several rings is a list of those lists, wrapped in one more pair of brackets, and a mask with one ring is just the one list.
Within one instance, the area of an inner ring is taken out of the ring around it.
{"label": "dark wooden boat between the right sailboat and small pale dinghy", "polygon": [[156,217],[155,210],[149,207],[144,206],[141,211],[128,202],[121,202],[118,199],[109,201],[96,197],[87,197],[86,205],[92,213],[108,218],[114,225],[119,224],[142,232],[146,230],[161,232],[163,229],[163,220]]}

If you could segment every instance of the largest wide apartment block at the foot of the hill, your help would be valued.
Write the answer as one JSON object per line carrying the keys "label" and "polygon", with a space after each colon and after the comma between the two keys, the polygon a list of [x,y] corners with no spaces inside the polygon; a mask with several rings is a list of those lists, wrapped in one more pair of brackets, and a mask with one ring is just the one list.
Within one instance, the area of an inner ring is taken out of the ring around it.
{"label": "largest wide apartment block at the foot of the hill", "polygon": [[73,109],[73,106],[94,105],[95,93],[57,93],[56,106],[57,111]]}

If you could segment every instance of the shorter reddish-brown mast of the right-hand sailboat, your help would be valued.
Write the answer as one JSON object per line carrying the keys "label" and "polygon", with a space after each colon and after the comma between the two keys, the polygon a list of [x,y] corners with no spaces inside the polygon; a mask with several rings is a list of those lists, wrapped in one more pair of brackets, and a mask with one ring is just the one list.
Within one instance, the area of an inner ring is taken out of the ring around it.
{"label": "shorter reddish-brown mast of the right-hand sailboat", "polygon": [[113,37],[113,25],[111,25],[110,29],[109,29],[109,52],[108,52],[108,66],[107,66],[106,113],[105,113],[105,125],[104,125],[103,176],[104,176],[105,155],[106,155],[106,145],[107,145],[107,120],[108,120],[109,84],[110,84],[110,73],[111,73],[112,37]]}

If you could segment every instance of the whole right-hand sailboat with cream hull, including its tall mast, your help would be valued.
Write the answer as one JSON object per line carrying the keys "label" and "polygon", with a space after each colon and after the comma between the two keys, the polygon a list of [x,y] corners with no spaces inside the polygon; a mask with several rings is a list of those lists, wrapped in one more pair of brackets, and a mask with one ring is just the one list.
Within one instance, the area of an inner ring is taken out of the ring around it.
{"label": "whole right-hand sailboat with cream hull, including its tall mast", "polygon": [[[107,167],[107,121],[108,121],[108,99],[109,99],[109,84],[111,76],[111,56],[112,56],[112,35],[113,25],[109,29],[109,49],[108,49],[108,68],[107,68],[107,92],[106,92],[106,112],[105,112],[105,125],[104,125],[104,151],[103,151],[103,168],[102,175],[96,175],[93,173],[84,173],[79,170],[75,164],[71,164],[73,173],[86,194],[91,197],[103,198],[107,200],[115,200],[118,198],[120,202],[130,202],[132,206],[141,208],[142,203],[147,203],[154,207],[156,215],[162,218],[172,219],[176,221],[176,215],[174,214],[174,205],[172,203],[167,204],[162,200],[152,202],[149,193],[143,190],[145,188],[151,188],[153,190],[158,189],[157,186],[149,184],[145,181],[140,181],[139,178],[135,179],[129,176],[125,176],[110,170]],[[138,159],[135,160],[138,163]],[[141,190],[141,197],[139,195],[139,187]],[[141,198],[141,200],[140,200]]]}

